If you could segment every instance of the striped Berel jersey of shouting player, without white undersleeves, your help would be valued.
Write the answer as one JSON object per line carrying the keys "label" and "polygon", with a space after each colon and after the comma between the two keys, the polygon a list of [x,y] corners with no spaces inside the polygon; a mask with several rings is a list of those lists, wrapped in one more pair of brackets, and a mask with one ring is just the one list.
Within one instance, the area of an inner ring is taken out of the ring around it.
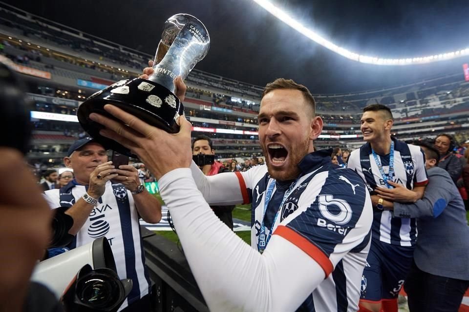
{"label": "striped Berel jersey of shouting player, without white undersleeves", "polygon": [[[262,219],[269,234],[280,209],[273,233],[296,245],[324,270],[325,280],[298,311],[358,310],[370,245],[372,206],[360,176],[332,165],[330,154],[318,151],[305,156],[298,165],[302,173],[296,181],[275,181],[265,165],[236,172],[244,202],[252,203],[252,247],[257,250]],[[293,191],[280,208],[292,182]],[[275,183],[275,187],[264,216],[269,183]]]}

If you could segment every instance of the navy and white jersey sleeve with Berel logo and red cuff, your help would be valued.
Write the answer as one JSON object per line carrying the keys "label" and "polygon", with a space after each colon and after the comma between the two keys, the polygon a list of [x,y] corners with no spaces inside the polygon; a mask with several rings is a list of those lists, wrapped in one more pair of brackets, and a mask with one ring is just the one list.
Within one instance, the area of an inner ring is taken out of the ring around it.
{"label": "navy and white jersey sleeve with Berel logo and red cuff", "polygon": [[345,254],[368,245],[373,219],[370,196],[350,169],[318,174],[303,194],[297,211],[274,234],[316,260],[328,276]]}

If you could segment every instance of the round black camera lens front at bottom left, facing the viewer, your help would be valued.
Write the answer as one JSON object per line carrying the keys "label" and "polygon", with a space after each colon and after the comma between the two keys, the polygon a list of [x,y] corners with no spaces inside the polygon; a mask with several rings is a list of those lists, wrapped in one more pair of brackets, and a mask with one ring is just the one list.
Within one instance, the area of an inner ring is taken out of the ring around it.
{"label": "round black camera lens front at bottom left, facing the viewer", "polygon": [[77,295],[80,301],[88,306],[109,307],[119,299],[119,285],[113,278],[92,274],[78,283]]}

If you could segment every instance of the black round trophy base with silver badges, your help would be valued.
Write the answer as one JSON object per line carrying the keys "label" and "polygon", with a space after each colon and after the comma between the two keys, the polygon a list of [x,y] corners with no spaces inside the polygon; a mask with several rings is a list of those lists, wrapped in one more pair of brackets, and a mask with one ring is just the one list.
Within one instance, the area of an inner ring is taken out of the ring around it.
{"label": "black round trophy base with silver badges", "polygon": [[87,98],[78,108],[80,125],[105,148],[129,157],[137,156],[116,141],[101,136],[99,131],[104,129],[104,126],[89,119],[89,114],[97,113],[117,120],[105,111],[106,104],[115,105],[169,133],[179,132],[177,118],[184,114],[184,106],[175,94],[156,82],[142,78],[118,81]]}

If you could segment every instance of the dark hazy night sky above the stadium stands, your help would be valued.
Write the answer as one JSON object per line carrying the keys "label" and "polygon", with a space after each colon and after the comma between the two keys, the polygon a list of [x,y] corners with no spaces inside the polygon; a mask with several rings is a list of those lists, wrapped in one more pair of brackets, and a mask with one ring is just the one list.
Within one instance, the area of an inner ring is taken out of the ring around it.
{"label": "dark hazy night sky above the stadium stands", "polygon": [[[201,20],[211,36],[196,68],[263,86],[293,78],[312,93],[395,86],[461,73],[469,57],[426,65],[377,66],[345,59],[272,17],[252,0],[5,0],[23,10],[153,55],[164,21]],[[365,55],[405,58],[469,46],[468,0],[277,0],[305,25]]]}

